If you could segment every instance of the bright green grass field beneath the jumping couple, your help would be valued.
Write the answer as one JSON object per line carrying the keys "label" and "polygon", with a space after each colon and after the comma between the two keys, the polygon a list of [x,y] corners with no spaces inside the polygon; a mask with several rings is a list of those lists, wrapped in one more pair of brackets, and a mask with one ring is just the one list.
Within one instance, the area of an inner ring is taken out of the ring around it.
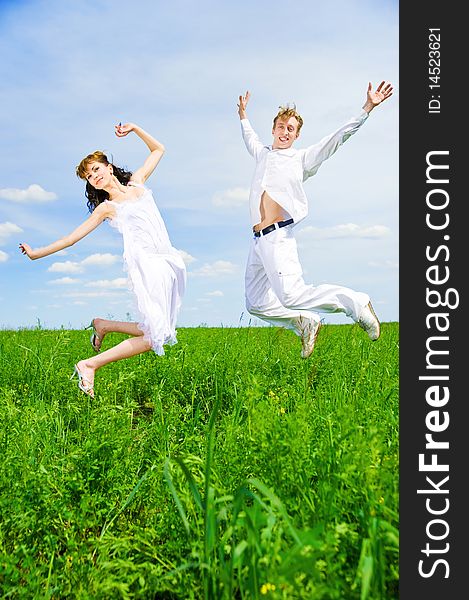
{"label": "bright green grass field beneath the jumping couple", "polygon": [[178,339],[0,331],[1,598],[398,598],[398,324]]}

